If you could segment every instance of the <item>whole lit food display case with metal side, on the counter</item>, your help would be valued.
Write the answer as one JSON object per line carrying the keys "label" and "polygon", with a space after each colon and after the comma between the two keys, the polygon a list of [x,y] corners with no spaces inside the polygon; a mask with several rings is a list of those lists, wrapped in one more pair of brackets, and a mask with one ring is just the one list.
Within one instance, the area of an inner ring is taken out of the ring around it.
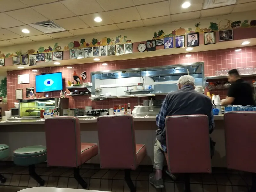
{"label": "whole lit food display case with metal side, on the counter", "polygon": [[41,110],[54,111],[57,108],[62,116],[63,109],[69,108],[68,98],[28,99],[20,100],[19,103],[20,118],[40,118]]}

